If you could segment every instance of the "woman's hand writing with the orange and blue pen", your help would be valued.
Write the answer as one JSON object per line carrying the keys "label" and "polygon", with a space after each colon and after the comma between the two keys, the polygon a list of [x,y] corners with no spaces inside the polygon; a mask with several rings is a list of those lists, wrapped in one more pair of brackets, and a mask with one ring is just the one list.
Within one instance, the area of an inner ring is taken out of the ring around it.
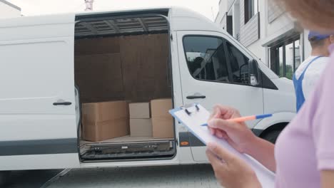
{"label": "woman's hand writing with the orange and blue pen", "polygon": [[235,108],[216,105],[208,120],[208,127],[212,135],[225,139],[238,152],[247,153],[256,137],[245,123],[226,121],[236,117],[241,115]]}

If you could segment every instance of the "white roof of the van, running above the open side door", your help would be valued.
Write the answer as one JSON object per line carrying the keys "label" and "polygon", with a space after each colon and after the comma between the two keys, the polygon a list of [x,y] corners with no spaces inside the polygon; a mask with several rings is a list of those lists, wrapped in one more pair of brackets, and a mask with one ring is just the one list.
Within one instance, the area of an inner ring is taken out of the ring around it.
{"label": "white roof of the van, running above the open side door", "polygon": [[224,32],[223,29],[218,26],[218,24],[213,23],[213,21],[206,18],[206,16],[198,14],[196,11],[191,11],[190,9],[185,9],[178,6],[162,6],[147,9],[123,9],[116,11],[90,11],[40,16],[21,16],[11,19],[0,19],[0,27],[6,28],[11,26],[36,26],[53,23],[69,23],[69,19],[73,17],[76,17],[77,20],[80,18],[88,18],[102,14],[162,14],[164,16],[168,16],[169,22],[171,23],[171,31],[202,30]]}

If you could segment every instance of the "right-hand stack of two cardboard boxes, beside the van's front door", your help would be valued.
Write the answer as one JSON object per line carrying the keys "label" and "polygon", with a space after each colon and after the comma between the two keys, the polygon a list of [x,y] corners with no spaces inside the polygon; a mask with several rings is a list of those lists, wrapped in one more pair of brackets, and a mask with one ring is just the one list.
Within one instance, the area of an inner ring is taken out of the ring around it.
{"label": "right-hand stack of two cardboard boxes, beside the van's front door", "polygon": [[173,117],[168,113],[172,108],[172,100],[151,100],[152,125],[154,138],[173,138]]}

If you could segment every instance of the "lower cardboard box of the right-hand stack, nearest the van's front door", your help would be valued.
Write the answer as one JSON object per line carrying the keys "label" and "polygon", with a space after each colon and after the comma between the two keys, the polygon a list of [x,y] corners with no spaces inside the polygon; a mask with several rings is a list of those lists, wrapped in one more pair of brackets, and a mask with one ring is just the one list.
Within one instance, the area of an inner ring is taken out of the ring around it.
{"label": "lower cardboard box of the right-hand stack, nearest the van's front door", "polygon": [[173,138],[174,125],[172,117],[152,117],[154,138]]}

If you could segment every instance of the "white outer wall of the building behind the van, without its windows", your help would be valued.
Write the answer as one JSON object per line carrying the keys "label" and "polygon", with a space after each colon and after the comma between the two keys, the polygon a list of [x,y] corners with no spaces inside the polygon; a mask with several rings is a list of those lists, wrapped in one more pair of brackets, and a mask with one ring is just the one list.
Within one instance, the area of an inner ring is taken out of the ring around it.
{"label": "white outer wall of the building behind the van, without its windows", "polygon": [[[226,28],[226,21],[224,16],[226,11],[234,12],[234,7],[238,4],[240,6],[240,30],[241,36],[237,38],[237,33],[235,28],[238,26],[233,25],[233,36],[244,46],[246,46],[250,51],[252,51],[255,56],[258,56],[263,63],[269,66],[269,54],[268,48],[278,41],[282,41],[288,36],[298,35],[301,33],[301,48],[302,48],[302,60],[303,57],[307,57],[310,54],[310,45],[307,40],[307,31],[303,31],[300,26],[293,20],[288,14],[285,14],[283,9],[276,4],[273,4],[271,0],[258,0],[258,11],[259,11],[259,22],[256,22],[255,18],[251,19],[252,23],[244,24],[244,0],[226,1],[221,0],[219,6],[219,13],[216,19],[216,23],[220,26]],[[232,6],[232,8],[228,7]],[[230,13],[229,13],[230,14]],[[233,16],[236,16],[233,14]],[[233,18],[234,19],[234,18]],[[236,23],[233,21],[233,23]],[[255,29],[257,28],[257,29]],[[260,28],[260,29],[258,29]],[[259,38],[256,39],[256,33],[258,32]]]}

